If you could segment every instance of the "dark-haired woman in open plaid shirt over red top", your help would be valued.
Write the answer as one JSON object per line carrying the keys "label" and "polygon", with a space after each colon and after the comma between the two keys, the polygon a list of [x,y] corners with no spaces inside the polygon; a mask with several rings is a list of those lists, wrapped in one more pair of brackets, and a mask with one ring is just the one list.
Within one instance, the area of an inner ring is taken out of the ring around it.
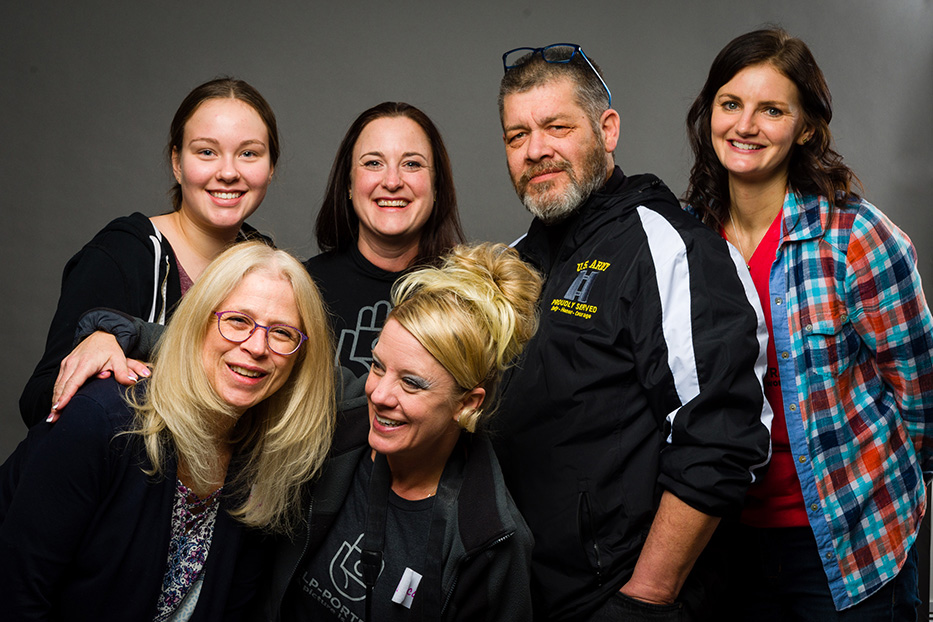
{"label": "dark-haired woman in open plaid shirt over red top", "polygon": [[933,319],[910,240],[855,192],[831,118],[810,50],[776,28],[723,48],[687,116],[687,209],[741,254],[771,337],[772,458],[736,530],[738,619],[913,620],[919,602]]}

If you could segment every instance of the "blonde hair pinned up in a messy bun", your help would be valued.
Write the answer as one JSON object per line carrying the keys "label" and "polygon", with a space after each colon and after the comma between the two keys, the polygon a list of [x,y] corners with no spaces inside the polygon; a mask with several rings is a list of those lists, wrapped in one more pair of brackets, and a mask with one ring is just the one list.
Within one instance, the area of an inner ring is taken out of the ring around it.
{"label": "blonde hair pinned up in a messy bun", "polygon": [[454,377],[486,390],[485,407],[460,417],[473,432],[493,410],[502,372],[538,328],[541,276],[504,244],[457,246],[437,268],[423,268],[392,289],[389,314]]}

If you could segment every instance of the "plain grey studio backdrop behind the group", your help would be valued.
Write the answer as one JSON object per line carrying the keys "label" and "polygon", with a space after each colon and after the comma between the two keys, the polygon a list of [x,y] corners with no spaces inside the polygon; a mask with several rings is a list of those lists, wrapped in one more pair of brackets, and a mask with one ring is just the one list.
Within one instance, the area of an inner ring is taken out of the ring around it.
{"label": "plain grey studio backdrop behind the group", "polygon": [[807,41],[835,101],[838,150],[913,238],[933,278],[933,2],[545,0],[47,2],[0,8],[0,459],[25,434],[17,400],[38,360],[67,259],[116,216],[167,209],[162,157],[177,105],[233,74],[276,111],[283,156],[251,223],[300,257],[350,121],[384,100],[424,109],[453,160],[473,240],[529,217],[505,172],[500,55],[578,42],[622,116],[617,161],[675,193],[687,107],[716,52],[766,23]]}

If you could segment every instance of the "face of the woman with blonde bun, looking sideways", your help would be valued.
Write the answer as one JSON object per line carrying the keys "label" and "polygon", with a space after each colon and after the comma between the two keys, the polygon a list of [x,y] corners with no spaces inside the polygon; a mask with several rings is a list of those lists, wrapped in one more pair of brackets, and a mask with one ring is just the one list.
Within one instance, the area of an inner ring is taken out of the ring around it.
{"label": "face of the woman with blonde bun, looking sideways", "polygon": [[482,389],[464,395],[450,372],[390,318],[366,380],[369,445],[390,459],[446,461],[459,437],[457,418],[478,408],[484,395]]}

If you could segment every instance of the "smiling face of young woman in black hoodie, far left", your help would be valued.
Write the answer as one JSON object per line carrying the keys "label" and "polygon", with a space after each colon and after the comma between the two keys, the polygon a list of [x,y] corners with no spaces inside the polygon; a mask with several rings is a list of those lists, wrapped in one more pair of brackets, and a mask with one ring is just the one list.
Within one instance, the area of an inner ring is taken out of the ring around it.
{"label": "smiling face of young woman in black hoodie, far left", "polygon": [[182,217],[201,229],[235,233],[256,211],[272,181],[269,132],[238,99],[208,99],[185,123],[172,169]]}

